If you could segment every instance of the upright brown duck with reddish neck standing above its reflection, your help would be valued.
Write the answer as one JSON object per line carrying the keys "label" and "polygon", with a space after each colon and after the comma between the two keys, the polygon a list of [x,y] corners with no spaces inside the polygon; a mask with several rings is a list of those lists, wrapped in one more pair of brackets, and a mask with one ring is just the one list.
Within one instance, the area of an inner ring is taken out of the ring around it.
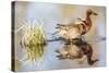
{"label": "upright brown duck with reddish neck standing above its reflection", "polygon": [[93,26],[92,15],[98,15],[93,10],[86,10],[86,19],[77,19],[80,23],[57,24],[57,33],[66,40],[72,42],[73,39],[82,39],[82,36],[88,33]]}

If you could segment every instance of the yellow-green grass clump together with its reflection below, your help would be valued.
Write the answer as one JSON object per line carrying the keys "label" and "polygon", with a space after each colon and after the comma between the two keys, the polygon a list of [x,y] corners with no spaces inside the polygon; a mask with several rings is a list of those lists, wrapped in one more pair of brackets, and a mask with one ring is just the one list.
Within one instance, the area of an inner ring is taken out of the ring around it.
{"label": "yellow-green grass clump together with its reflection below", "polygon": [[39,60],[44,57],[44,47],[47,42],[43,25],[43,23],[26,25],[23,45],[27,51],[28,60]]}

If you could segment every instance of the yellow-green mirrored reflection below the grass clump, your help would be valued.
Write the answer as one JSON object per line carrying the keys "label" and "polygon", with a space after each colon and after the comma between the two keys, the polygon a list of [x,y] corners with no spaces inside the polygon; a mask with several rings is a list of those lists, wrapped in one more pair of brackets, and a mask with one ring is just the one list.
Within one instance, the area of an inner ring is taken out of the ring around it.
{"label": "yellow-green mirrored reflection below the grass clump", "polygon": [[45,47],[44,45],[26,47],[27,60],[31,61],[41,60],[45,51],[44,47]]}

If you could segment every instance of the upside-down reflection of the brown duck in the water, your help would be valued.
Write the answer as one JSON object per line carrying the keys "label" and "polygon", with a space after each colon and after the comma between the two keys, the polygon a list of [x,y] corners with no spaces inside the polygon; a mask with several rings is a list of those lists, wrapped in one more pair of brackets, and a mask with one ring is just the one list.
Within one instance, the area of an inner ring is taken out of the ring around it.
{"label": "upside-down reflection of the brown duck in the water", "polygon": [[77,59],[78,63],[82,63],[85,59],[89,65],[93,65],[98,59],[93,60],[93,48],[90,44],[84,40],[77,40],[73,44],[66,44],[62,49],[57,50],[59,54],[57,56],[60,60],[62,59]]}

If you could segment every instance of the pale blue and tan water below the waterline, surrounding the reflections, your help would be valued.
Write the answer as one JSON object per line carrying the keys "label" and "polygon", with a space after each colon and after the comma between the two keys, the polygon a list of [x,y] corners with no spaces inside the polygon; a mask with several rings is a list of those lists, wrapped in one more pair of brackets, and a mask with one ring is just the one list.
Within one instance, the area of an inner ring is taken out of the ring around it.
{"label": "pale blue and tan water below the waterline, surrounding the reflections", "polygon": [[[59,60],[57,58],[58,53],[56,52],[59,49],[63,49],[64,44],[60,41],[52,41],[45,46],[45,53],[41,61],[29,61],[29,59],[20,61],[16,63],[19,66],[17,71],[36,71],[36,70],[61,70],[61,69],[80,69],[80,68],[92,68],[92,66],[105,66],[105,58],[106,58],[106,50],[105,50],[105,41],[100,44],[99,47],[92,45],[93,47],[93,59],[98,59],[96,63],[89,65],[87,63],[87,59],[84,60],[83,63],[78,63],[77,59],[63,59]],[[73,47],[74,48],[74,47]],[[19,49],[19,57],[22,59],[26,57],[26,52],[24,49]],[[37,57],[36,57],[37,58]],[[20,64],[21,63],[21,64]]]}

